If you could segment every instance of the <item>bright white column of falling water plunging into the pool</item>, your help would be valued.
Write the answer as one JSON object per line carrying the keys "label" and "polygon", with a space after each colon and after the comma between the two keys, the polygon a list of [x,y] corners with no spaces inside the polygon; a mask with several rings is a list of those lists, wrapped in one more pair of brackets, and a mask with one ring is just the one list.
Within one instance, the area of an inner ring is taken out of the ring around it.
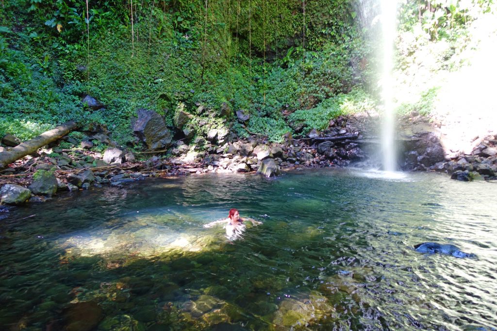
{"label": "bright white column of falling water plunging into the pool", "polygon": [[382,159],[383,170],[395,171],[395,115],[393,105],[393,77],[394,40],[396,31],[396,0],[381,0],[381,32],[382,32],[382,58],[381,58],[381,89],[383,101],[382,119]]}

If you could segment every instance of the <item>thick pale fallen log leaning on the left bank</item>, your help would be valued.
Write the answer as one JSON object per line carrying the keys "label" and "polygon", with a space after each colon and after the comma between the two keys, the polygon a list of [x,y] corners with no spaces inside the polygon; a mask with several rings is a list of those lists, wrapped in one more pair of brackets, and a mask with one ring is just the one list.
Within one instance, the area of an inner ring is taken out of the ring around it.
{"label": "thick pale fallen log leaning on the left bank", "polygon": [[76,129],[78,125],[76,122],[70,121],[58,126],[55,129],[43,132],[33,139],[24,141],[14,148],[0,153],[0,169],[5,168],[10,163],[35,152],[38,148],[41,148],[52,141],[59,139],[60,137],[68,134],[72,130]]}

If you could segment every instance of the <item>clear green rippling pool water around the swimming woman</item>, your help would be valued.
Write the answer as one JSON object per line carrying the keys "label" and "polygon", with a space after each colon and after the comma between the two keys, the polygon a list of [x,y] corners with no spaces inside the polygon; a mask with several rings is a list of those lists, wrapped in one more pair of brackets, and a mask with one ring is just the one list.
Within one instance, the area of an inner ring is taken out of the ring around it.
{"label": "clear green rippling pool water around the swimming woman", "polygon": [[[63,195],[0,221],[0,329],[495,330],[496,200],[329,169]],[[233,243],[202,227],[232,207],[264,224]],[[478,259],[413,250],[426,241]]]}

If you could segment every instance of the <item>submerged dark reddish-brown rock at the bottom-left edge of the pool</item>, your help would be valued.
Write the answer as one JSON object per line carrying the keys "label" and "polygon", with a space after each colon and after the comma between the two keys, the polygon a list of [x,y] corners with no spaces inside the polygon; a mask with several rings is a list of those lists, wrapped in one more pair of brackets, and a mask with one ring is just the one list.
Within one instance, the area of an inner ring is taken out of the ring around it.
{"label": "submerged dark reddish-brown rock at the bottom-left edge of the pool", "polygon": [[67,331],[91,331],[103,317],[103,311],[95,302],[70,304],[63,313]]}

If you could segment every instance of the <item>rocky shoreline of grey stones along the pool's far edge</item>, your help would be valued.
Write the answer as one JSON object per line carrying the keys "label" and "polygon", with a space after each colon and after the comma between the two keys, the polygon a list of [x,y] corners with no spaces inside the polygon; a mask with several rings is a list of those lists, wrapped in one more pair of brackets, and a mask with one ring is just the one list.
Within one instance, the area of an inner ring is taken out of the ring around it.
{"label": "rocky shoreline of grey stones along the pool's far edge", "polygon": [[[281,170],[295,168],[377,166],[370,152],[376,143],[371,128],[377,125],[377,119],[364,116],[339,117],[331,121],[324,132],[313,130],[299,139],[287,133],[282,143],[268,142],[267,137],[260,135],[239,138],[234,132],[216,129],[192,139],[188,137],[191,130],[183,129],[187,121],[178,124],[182,121],[178,116],[176,125],[183,136],[172,143],[172,134],[164,131],[165,128],[158,129],[157,123],[152,129],[148,128],[157,116],[150,111],[139,112],[134,131],[149,149],[162,150],[133,153],[129,146],[117,146],[106,128],[95,126],[85,132],[86,137],[81,141],[65,136],[62,141],[72,148],[64,149],[58,142],[3,169],[1,203],[43,202],[61,191],[89,190],[103,185],[121,187],[146,178],[191,173],[255,172],[273,177]],[[165,126],[163,120],[162,126]],[[399,153],[398,164],[402,170],[445,172],[463,181],[495,179],[497,140],[494,135],[478,137],[471,154],[452,152],[449,155],[443,149],[436,123],[414,115],[401,119],[400,127],[398,145],[402,153]],[[5,146],[18,143],[11,135],[2,139]],[[109,147],[103,153],[95,152],[92,150],[95,143]],[[9,147],[0,148],[1,152]],[[150,154],[154,156],[137,160]],[[164,154],[166,156],[159,156]]]}

